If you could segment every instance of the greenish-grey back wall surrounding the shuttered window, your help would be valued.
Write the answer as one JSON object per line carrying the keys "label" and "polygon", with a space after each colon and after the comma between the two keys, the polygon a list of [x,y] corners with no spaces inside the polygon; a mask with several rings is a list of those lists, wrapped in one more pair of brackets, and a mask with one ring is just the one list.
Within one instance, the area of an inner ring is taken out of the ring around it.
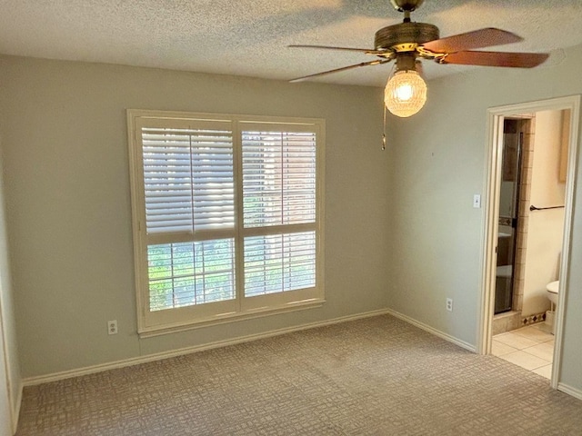
{"label": "greenish-grey back wall surrounding the shuttered window", "polygon": [[[394,211],[378,89],[8,56],[0,84],[24,377],[386,308]],[[325,118],[326,304],[140,340],[127,108]]]}

